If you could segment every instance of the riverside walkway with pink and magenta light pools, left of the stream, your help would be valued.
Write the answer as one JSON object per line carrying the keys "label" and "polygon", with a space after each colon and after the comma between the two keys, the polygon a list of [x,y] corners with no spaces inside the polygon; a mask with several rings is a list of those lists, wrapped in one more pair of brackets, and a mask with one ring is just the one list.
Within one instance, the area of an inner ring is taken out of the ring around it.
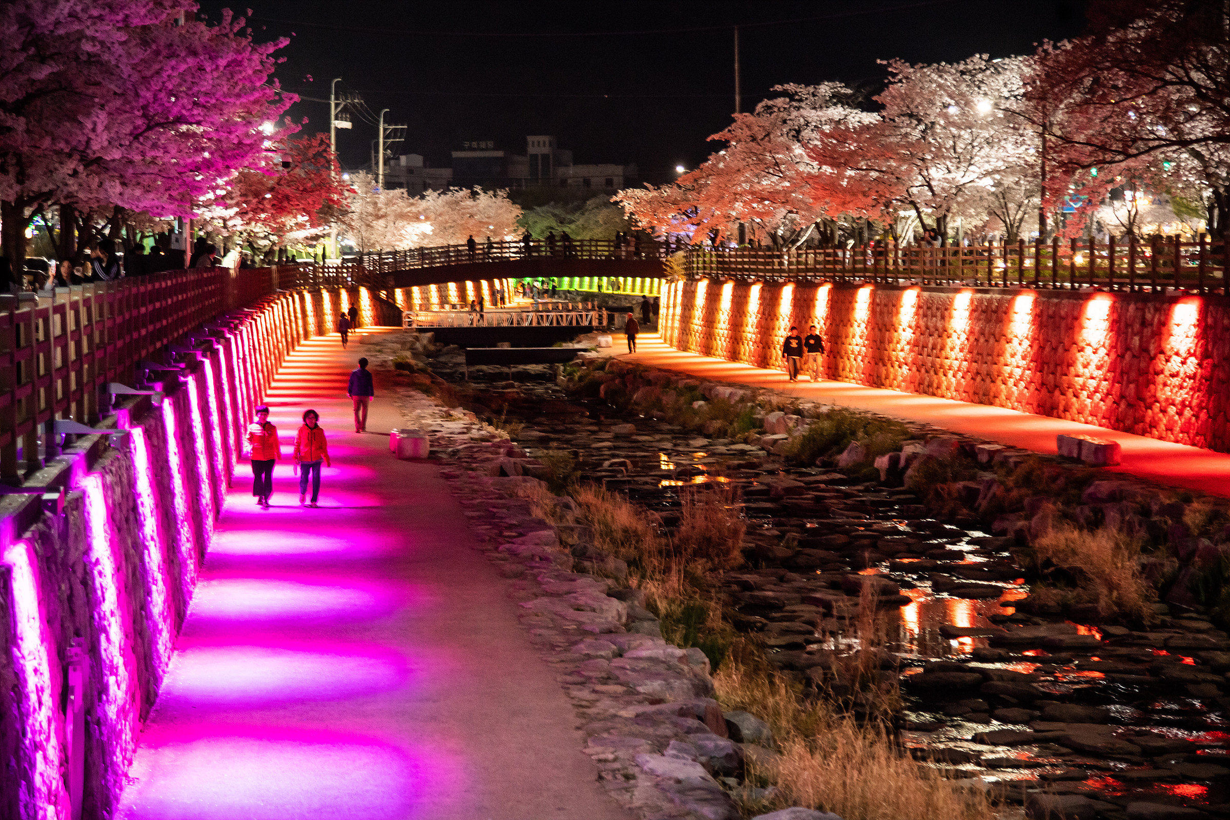
{"label": "riverside walkway with pink and magenta light pools, left of the stream", "polygon": [[[362,352],[315,339],[282,369],[274,507],[241,465],[118,816],[626,819],[437,468],[389,455],[387,396],[354,434]],[[321,509],[290,472],[308,407],[333,457]]]}

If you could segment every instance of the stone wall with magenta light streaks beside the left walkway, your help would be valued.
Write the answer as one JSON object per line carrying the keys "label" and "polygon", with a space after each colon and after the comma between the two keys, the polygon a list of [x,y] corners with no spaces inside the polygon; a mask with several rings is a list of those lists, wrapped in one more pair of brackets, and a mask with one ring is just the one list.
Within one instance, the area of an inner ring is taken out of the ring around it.
{"label": "stone wall with magenta light streaks beside the left walkway", "polygon": [[283,293],[184,328],[187,366],[151,373],[161,403],[117,397],[97,424],[127,435],[80,436],[31,492],[0,495],[0,820],[113,815],[253,407],[351,301],[376,323],[379,300],[354,288]]}

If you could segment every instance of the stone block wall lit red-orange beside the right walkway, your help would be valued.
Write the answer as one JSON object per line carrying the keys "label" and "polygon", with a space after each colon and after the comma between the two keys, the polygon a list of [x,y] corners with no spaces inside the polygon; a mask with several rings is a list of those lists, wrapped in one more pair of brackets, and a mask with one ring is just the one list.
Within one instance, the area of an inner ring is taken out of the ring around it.
{"label": "stone block wall lit red-orange beside the right walkway", "polygon": [[1230,451],[1230,299],[1127,293],[675,282],[663,341],[781,368],[817,325],[828,379]]}

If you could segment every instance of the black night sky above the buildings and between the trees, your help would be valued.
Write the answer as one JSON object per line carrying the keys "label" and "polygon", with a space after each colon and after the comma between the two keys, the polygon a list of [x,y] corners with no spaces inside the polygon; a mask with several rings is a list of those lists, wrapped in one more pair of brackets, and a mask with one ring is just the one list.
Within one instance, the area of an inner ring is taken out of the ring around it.
{"label": "black night sky above the buildings and between the trees", "polygon": [[[399,152],[448,166],[462,140],[524,152],[526,134],[554,134],[576,162],[636,162],[651,182],[704,160],[715,150],[705,138],[729,122],[732,25],[743,26],[744,111],[781,82],[840,80],[875,93],[879,59],[1025,54],[1084,27],[1081,0],[248,2],[258,39],[294,34],[282,86],[327,100],[330,80],[342,77],[373,119],[389,108],[386,122],[408,125]],[[202,11],[216,18],[228,5],[207,1]],[[525,36],[582,32],[599,34]],[[290,109],[309,133],[328,130],[327,112],[310,100]],[[352,119],[338,152],[358,167],[376,128]]]}

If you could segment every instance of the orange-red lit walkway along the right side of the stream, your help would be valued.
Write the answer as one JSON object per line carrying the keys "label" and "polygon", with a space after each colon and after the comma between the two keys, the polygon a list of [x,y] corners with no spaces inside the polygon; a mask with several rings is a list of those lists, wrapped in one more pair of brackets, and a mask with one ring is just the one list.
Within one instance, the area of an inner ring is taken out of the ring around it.
{"label": "orange-red lit walkway along the right side of the stream", "polygon": [[[616,337],[615,344],[622,348],[622,337]],[[1230,497],[1230,455],[1221,452],[1001,407],[863,387],[844,381],[812,384],[807,377],[802,377],[792,385],[780,370],[753,368],[676,350],[663,343],[657,333],[637,337],[637,353],[624,354],[620,358],[704,379],[771,387],[806,401],[841,404],[911,422],[924,422],[954,433],[1026,447],[1036,452],[1055,452],[1055,436],[1060,433],[1113,439],[1123,447],[1123,463],[1113,470],[1173,487]]]}

